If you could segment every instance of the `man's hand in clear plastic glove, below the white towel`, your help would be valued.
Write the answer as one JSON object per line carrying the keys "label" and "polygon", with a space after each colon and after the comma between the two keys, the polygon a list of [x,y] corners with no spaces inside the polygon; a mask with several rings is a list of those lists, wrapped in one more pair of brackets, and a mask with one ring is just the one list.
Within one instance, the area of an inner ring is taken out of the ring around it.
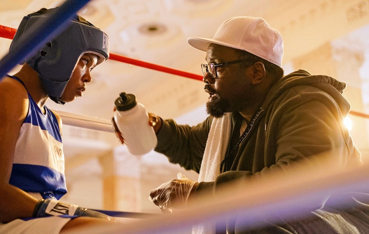
{"label": "man's hand in clear plastic glove, below the white towel", "polygon": [[188,179],[181,172],[177,174],[177,178],[152,190],[149,200],[160,209],[171,211],[173,208],[185,208],[192,188],[199,183]]}

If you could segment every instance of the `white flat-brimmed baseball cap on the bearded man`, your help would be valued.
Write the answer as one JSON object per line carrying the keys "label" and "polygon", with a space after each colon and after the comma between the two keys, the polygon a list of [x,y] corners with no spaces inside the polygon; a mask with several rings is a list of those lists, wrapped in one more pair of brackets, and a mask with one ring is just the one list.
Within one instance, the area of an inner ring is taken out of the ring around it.
{"label": "white flat-brimmed baseball cap on the bearded man", "polygon": [[213,39],[189,37],[187,42],[205,52],[211,43],[245,50],[282,66],[282,36],[260,17],[239,16],[227,19],[220,25]]}

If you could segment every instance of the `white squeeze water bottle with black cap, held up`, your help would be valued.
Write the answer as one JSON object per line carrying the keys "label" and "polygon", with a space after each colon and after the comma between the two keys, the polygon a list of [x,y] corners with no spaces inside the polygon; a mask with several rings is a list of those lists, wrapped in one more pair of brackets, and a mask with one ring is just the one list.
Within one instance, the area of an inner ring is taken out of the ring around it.
{"label": "white squeeze water bottle with black cap, held up", "polygon": [[117,111],[114,121],[124,138],[128,151],[133,155],[144,155],[156,147],[157,138],[149,125],[146,108],[138,103],[134,94],[121,93],[115,101]]}

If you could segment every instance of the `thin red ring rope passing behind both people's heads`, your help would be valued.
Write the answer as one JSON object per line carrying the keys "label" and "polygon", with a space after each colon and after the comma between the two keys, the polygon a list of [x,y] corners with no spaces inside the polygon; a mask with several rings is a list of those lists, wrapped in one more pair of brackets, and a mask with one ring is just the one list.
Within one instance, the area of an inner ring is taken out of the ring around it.
{"label": "thin red ring rope passing behind both people's heads", "polygon": [[[0,25],[0,37],[13,39],[14,34],[16,34],[16,31],[17,31],[17,29],[13,29],[13,28],[9,28],[9,27]],[[181,77],[186,77],[186,78],[191,78],[191,79],[197,79],[197,80],[202,81],[202,76],[196,75],[196,74],[193,74],[193,73],[188,73],[188,72],[176,70],[176,69],[173,69],[173,68],[156,65],[156,64],[153,64],[153,63],[150,63],[150,62],[143,62],[143,61],[140,61],[140,60],[131,59],[131,58],[128,58],[128,57],[125,57],[125,56],[122,56],[122,55],[118,55],[118,54],[110,53],[109,55],[110,55],[110,57],[109,57],[110,60],[125,62],[125,63],[133,64],[133,65],[136,65],[136,66],[141,66],[141,67],[146,67],[146,68],[149,68],[149,69],[153,69],[153,70],[156,70],[156,71],[166,72],[166,73],[169,73],[169,74],[173,74],[173,75],[177,75],[177,76],[181,76]],[[349,114],[369,119],[369,114],[365,114],[365,113],[361,113],[361,112],[357,112],[357,111],[353,111],[353,110],[351,110]]]}

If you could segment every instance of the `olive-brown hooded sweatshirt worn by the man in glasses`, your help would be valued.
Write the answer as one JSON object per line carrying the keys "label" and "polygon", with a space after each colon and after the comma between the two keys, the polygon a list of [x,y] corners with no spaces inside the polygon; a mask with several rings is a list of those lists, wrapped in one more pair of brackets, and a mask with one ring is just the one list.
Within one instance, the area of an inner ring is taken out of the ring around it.
{"label": "olive-brown hooded sweatshirt worn by the man in glasses", "polygon": [[[239,145],[229,170],[214,182],[201,182],[195,194],[217,196],[222,183],[240,179],[247,185],[252,177],[286,172],[291,165],[304,162],[302,165],[318,165],[320,170],[361,165],[360,153],[343,125],[350,110],[350,104],[342,96],[345,87],[345,83],[334,78],[312,76],[305,70],[278,80],[270,88],[263,103],[264,111]],[[232,113],[233,127],[239,118],[238,113]],[[186,170],[199,172],[212,120],[209,116],[196,126],[177,125],[171,119],[163,121],[155,151]],[[319,155],[326,152],[335,165],[325,165],[323,160],[319,164]],[[321,207],[328,195],[309,208]]]}

